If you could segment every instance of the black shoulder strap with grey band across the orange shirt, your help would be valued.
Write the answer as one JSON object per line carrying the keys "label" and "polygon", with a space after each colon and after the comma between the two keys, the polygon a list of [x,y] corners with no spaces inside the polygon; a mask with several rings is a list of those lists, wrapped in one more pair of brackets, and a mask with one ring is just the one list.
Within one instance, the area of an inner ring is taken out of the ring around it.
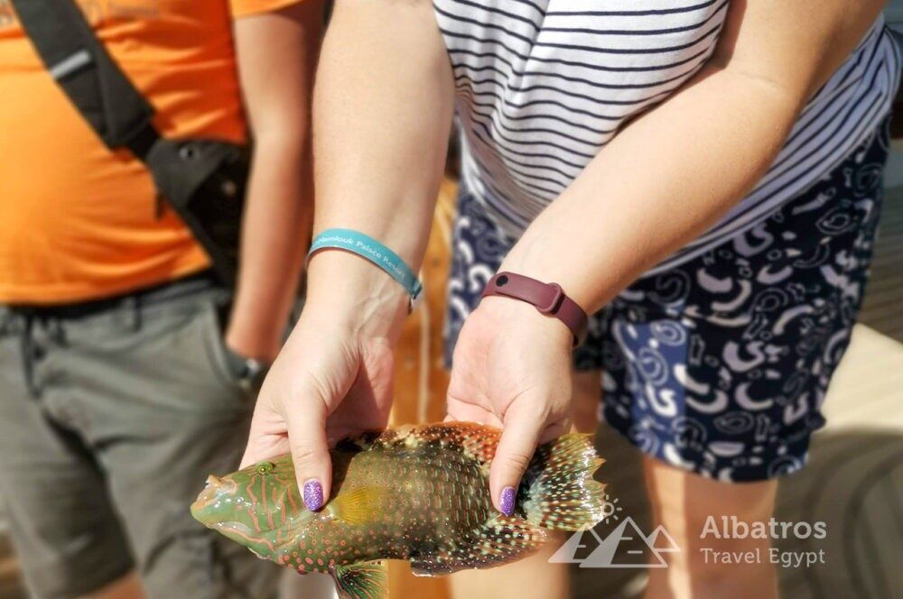
{"label": "black shoulder strap with grey band across the orange shirt", "polygon": [[110,58],[74,0],[11,0],[51,77],[110,149],[144,160],[154,108]]}

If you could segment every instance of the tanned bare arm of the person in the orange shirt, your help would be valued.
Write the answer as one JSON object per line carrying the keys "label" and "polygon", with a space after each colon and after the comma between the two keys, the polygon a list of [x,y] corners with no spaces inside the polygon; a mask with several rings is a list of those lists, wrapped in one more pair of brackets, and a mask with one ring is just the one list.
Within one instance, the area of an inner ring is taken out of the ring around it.
{"label": "tanned bare arm of the person in the orange shirt", "polygon": [[281,346],[311,233],[310,115],[322,14],[322,0],[306,0],[235,24],[254,161],[226,342],[265,361]]}

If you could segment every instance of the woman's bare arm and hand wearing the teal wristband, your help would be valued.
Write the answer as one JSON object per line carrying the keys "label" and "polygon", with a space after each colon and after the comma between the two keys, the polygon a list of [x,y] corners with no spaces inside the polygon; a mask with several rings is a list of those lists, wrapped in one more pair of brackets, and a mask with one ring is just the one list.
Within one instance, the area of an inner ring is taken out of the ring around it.
{"label": "woman's bare arm and hand wearing the teal wristband", "polygon": [[[315,231],[357,229],[419,268],[452,122],[451,70],[429,0],[336,3],[314,101]],[[386,425],[406,305],[372,264],[316,254],[243,464],[291,450],[305,502],[319,507],[330,493],[328,440]]]}

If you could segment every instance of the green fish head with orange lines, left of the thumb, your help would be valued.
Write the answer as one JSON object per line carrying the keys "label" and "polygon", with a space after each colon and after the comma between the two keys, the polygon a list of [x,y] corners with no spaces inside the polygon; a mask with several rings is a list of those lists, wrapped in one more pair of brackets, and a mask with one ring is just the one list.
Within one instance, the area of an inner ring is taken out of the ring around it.
{"label": "green fish head with orange lines, left of the thumb", "polygon": [[209,476],[191,504],[191,515],[258,557],[272,558],[275,539],[282,536],[279,530],[307,512],[297,497],[291,459],[278,459],[222,477]]}

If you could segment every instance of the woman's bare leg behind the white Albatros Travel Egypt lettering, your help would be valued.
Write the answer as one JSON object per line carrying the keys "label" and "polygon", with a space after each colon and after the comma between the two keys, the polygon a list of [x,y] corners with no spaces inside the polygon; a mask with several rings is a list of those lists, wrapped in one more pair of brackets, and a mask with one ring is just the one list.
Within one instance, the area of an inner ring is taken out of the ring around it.
{"label": "woman's bare leg behind the white Albatros Travel Egypt lettering", "polygon": [[[710,518],[752,524],[768,522],[777,481],[729,484],[694,475],[645,457],[643,470],[656,528],[663,526],[679,551],[662,552],[667,567],[649,568],[648,599],[667,597],[777,597],[777,576],[768,559],[769,539],[719,539],[703,534]],[[725,565],[715,552],[757,556],[752,563]]]}

